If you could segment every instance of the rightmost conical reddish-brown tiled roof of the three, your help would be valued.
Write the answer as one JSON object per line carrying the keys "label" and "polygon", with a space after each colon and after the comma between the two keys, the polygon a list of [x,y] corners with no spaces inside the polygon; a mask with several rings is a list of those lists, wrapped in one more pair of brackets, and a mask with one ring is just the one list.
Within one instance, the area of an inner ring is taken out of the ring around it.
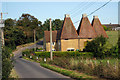
{"label": "rightmost conical reddish-brown tiled roof of the three", "polygon": [[102,27],[102,24],[101,24],[99,18],[94,18],[93,19],[92,26],[93,26],[95,32],[97,33],[97,36],[101,36],[102,35],[102,36],[108,38],[104,28]]}

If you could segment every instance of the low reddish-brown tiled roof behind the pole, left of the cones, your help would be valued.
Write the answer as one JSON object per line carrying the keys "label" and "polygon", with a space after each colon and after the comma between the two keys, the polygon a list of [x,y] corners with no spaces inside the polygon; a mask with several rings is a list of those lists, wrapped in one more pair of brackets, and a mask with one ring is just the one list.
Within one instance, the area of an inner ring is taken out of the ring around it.
{"label": "low reddish-brown tiled roof behind the pole, left of the cones", "polygon": [[[52,31],[52,42],[55,42],[57,39],[58,31]],[[44,37],[46,42],[50,42],[50,31],[44,31]]]}

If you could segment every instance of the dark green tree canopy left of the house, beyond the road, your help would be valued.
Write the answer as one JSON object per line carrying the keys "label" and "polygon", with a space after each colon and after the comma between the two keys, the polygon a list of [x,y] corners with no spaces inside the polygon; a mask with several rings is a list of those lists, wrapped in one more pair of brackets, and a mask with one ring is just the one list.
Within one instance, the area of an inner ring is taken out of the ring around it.
{"label": "dark green tree canopy left of the house, beyond the road", "polygon": [[[8,18],[5,20],[4,35],[5,45],[15,49],[16,46],[33,42],[33,30],[36,30],[36,39],[43,38],[44,31],[49,30],[49,19],[42,24],[30,14],[22,14],[18,20]],[[52,20],[52,29],[60,30],[63,20]]]}

